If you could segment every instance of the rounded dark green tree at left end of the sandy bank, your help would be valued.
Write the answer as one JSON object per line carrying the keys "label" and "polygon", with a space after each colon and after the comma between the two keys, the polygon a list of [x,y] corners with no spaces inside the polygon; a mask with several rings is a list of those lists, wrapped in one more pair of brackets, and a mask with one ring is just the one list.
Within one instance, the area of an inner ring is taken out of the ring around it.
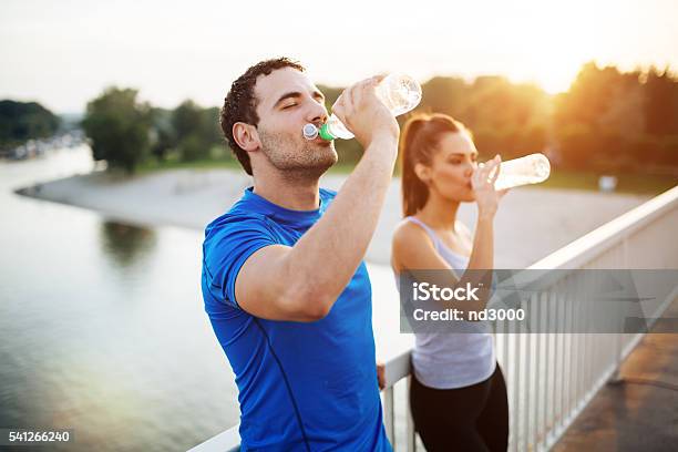
{"label": "rounded dark green tree at left end of the sandy bank", "polygon": [[129,174],[148,154],[151,109],[136,100],[132,89],[106,89],[88,103],[82,122],[92,141],[95,161],[106,161],[111,167],[122,167]]}

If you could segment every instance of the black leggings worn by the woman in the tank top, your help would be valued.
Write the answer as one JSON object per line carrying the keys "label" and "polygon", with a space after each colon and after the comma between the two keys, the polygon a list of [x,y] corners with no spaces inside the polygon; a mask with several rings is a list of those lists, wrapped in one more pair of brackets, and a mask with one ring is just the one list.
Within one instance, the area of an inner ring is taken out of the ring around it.
{"label": "black leggings worn by the woman in the tank top", "polygon": [[487,380],[458,389],[429,388],[412,374],[410,407],[428,452],[508,446],[508,401],[499,363]]}

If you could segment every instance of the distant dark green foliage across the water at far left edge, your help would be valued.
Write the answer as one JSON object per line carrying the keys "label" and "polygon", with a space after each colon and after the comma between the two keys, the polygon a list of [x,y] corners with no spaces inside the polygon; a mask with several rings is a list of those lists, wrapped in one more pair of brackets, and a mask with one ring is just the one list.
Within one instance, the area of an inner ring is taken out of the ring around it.
{"label": "distant dark green foliage across the water at far left edge", "polygon": [[35,102],[0,101],[0,146],[53,135],[60,120]]}

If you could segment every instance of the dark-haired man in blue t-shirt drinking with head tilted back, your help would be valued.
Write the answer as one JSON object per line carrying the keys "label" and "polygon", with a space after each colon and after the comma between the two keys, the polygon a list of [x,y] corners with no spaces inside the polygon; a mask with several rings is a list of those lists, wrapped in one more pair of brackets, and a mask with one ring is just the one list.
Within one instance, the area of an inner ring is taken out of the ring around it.
{"label": "dark-haired man in blue t-shirt drinking with head tilted back", "polygon": [[236,374],[244,450],[391,450],[362,261],[398,153],[380,80],[332,107],[364,147],[338,194],[319,188],[333,143],[301,133],[328,113],[300,64],[263,61],[226,96],[222,129],[254,187],[207,226],[202,286]]}

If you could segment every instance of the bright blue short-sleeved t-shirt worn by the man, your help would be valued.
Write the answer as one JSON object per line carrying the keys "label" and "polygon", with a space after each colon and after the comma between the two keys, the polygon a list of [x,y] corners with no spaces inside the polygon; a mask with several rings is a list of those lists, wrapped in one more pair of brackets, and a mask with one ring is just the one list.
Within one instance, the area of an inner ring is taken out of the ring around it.
{"label": "bright blue short-sleeved t-shirt worn by the man", "polygon": [[236,376],[243,450],[391,451],[377,384],[364,263],[318,321],[265,320],[240,309],[235,298],[245,260],[265,246],[294,246],[335,195],[320,189],[320,208],[299,212],[250,187],[205,230],[205,310]]}

